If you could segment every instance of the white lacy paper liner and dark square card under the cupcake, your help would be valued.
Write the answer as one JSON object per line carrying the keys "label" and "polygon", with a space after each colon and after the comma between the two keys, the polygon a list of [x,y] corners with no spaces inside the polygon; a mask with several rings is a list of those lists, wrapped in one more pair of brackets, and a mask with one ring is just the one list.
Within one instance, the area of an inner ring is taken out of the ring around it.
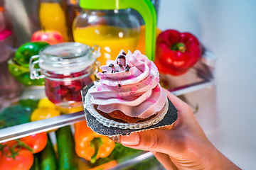
{"label": "white lacy paper liner and dark square card under the cupcake", "polygon": [[[147,120],[142,123],[117,123],[114,120],[109,120],[100,115],[100,113],[97,113],[91,103],[90,94],[87,95],[88,89],[90,89],[90,87],[93,85],[93,83],[89,84],[82,89],[82,102],[85,110],[87,126],[100,135],[107,135],[109,137],[116,135],[129,135],[131,132],[162,128],[167,125],[173,125],[178,118],[177,109],[174,107],[171,101],[167,99],[164,108],[154,117],[157,117],[156,119],[152,118],[151,120]],[[148,121],[151,121],[152,124]]]}

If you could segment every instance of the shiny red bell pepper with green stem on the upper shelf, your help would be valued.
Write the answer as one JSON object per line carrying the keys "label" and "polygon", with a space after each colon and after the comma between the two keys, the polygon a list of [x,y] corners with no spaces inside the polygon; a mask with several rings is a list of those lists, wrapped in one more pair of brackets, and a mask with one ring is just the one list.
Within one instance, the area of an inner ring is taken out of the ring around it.
{"label": "shiny red bell pepper with green stem on the upper shelf", "polygon": [[156,39],[155,64],[162,74],[184,74],[196,64],[200,56],[200,43],[191,33],[165,30]]}

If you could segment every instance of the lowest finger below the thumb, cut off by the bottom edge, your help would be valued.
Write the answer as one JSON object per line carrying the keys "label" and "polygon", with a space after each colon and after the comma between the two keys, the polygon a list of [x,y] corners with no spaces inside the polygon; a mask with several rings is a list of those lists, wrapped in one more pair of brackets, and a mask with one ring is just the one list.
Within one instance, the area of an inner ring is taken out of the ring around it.
{"label": "lowest finger below the thumb, cut off by the bottom edge", "polygon": [[166,169],[177,169],[176,165],[171,161],[168,154],[163,154],[160,152],[153,152],[153,154]]}

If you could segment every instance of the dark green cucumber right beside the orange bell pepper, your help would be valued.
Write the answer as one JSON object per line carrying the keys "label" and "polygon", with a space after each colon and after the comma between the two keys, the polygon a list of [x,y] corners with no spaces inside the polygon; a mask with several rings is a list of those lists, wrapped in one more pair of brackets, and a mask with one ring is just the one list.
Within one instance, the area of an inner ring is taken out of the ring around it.
{"label": "dark green cucumber right beside the orange bell pepper", "polygon": [[59,169],[78,169],[78,157],[75,154],[75,141],[70,126],[59,128],[56,132]]}

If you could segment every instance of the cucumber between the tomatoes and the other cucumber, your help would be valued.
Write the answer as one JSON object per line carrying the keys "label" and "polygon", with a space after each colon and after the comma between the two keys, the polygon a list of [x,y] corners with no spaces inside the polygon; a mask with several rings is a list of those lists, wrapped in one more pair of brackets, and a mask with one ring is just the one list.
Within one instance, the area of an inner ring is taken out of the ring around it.
{"label": "cucumber between the tomatoes and the other cucumber", "polygon": [[53,149],[53,144],[50,141],[50,137],[48,135],[48,140],[46,147],[36,154],[38,157],[38,164],[40,170],[57,170],[58,169],[58,163],[55,156],[55,152]]}

